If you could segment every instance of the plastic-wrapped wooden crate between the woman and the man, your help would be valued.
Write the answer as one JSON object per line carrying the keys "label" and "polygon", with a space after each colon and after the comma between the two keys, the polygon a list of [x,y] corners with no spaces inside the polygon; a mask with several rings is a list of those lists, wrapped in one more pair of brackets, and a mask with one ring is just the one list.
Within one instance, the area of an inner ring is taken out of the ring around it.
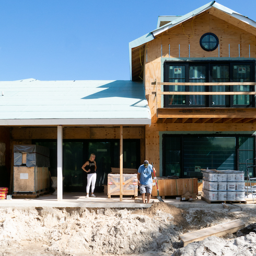
{"label": "plastic-wrapped wooden crate between the woman and the man", "polygon": [[[108,174],[108,198],[120,195],[120,174]],[[138,196],[137,174],[123,174],[123,195]]]}

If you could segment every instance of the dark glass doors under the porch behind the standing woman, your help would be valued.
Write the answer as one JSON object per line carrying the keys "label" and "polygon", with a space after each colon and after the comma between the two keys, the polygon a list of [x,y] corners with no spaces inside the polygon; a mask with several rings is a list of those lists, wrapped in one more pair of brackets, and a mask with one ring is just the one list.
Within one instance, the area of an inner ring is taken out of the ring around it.
{"label": "dark glass doors under the porch behind the standing woman", "polygon": [[[119,139],[64,139],[63,140],[63,189],[64,192],[85,191],[86,173],[82,165],[89,159],[89,155],[96,155],[97,181],[96,190],[107,184],[108,173],[111,167],[119,167],[120,141]],[[56,140],[34,139],[32,144],[50,149],[51,176],[57,176],[57,149]],[[141,164],[139,139],[124,139],[123,141],[123,168],[137,169]]]}

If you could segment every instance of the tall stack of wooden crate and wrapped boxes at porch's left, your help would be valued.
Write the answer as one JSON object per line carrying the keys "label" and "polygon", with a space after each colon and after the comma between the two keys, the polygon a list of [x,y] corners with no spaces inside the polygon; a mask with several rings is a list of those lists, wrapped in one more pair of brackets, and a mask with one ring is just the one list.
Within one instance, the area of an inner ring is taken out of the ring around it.
{"label": "tall stack of wooden crate and wrapped boxes at porch's left", "polygon": [[14,145],[14,197],[37,197],[50,188],[49,148]]}

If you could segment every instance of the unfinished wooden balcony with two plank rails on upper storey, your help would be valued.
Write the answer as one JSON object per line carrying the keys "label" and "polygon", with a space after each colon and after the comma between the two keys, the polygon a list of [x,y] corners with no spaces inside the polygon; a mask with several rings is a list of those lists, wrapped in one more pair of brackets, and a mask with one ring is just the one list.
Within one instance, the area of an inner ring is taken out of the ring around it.
{"label": "unfinished wooden balcony with two plank rails on upper storey", "polygon": [[[164,97],[169,96],[206,96],[206,97],[216,97],[216,96],[230,96],[232,99],[236,95],[249,96],[254,104],[254,97],[256,95],[254,91],[233,91],[235,86],[240,86],[246,88],[255,88],[256,83],[254,82],[225,82],[225,83],[159,83],[154,82],[154,89],[152,94],[155,95],[154,103],[156,107],[155,117],[153,117],[153,122],[155,123],[256,123],[256,110],[255,107],[239,106],[235,104],[232,107],[200,107],[200,106],[179,106],[164,108]],[[162,86],[176,86],[176,88],[181,88],[185,86],[185,91],[162,91]],[[226,91],[188,91],[189,86],[204,86],[207,88],[211,86],[225,86]]]}

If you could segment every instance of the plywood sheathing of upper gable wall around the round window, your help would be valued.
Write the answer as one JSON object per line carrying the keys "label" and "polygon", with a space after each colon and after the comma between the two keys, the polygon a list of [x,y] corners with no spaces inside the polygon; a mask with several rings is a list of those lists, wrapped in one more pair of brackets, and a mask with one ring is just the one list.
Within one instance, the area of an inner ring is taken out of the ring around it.
{"label": "plywood sheathing of upper gable wall around the round window", "polygon": [[[218,15],[220,16],[220,15]],[[227,19],[231,22],[232,19]],[[178,25],[159,34],[153,41],[147,43],[147,62],[145,62],[145,90],[148,96],[152,122],[157,122],[155,95],[152,95],[152,82],[161,81],[161,57],[169,58],[204,58],[204,57],[256,57],[256,37],[254,34],[242,30],[245,25],[234,26],[224,19],[215,17],[207,12],[191,18],[182,25]],[[242,21],[241,21],[242,22]],[[243,22],[244,23],[244,22]],[[219,49],[204,51],[200,46],[200,38],[204,33],[215,33],[219,38]],[[170,45],[170,51],[169,51]],[[190,45],[190,53],[189,53]],[[250,51],[249,51],[250,45]],[[158,88],[160,90],[160,87]],[[150,95],[151,94],[151,95]],[[157,103],[158,108],[160,101]],[[161,120],[162,122],[162,120]]]}

